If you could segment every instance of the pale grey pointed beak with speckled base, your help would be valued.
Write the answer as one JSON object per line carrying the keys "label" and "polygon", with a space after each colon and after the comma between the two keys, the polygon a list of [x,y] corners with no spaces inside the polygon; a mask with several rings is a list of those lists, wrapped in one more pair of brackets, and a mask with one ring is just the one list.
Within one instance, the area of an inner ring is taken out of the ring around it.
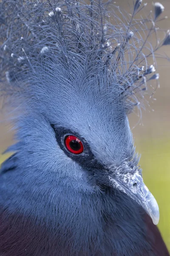
{"label": "pale grey pointed beak with speckled base", "polygon": [[134,174],[118,174],[114,177],[109,176],[111,186],[126,193],[130,198],[135,200],[152,218],[153,224],[159,222],[159,207],[154,196],[145,186],[142,176],[139,172]]}

